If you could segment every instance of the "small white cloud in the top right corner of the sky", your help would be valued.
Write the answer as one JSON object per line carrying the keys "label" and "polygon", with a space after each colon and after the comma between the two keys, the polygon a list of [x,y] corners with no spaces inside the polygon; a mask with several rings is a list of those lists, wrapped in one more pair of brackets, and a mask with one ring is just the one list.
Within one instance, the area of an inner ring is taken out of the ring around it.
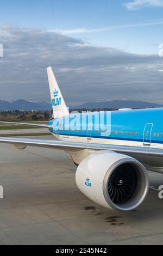
{"label": "small white cloud in the top right corner of the sky", "polygon": [[133,2],[125,3],[124,6],[128,10],[139,10],[144,7],[163,7],[162,0],[134,0]]}

